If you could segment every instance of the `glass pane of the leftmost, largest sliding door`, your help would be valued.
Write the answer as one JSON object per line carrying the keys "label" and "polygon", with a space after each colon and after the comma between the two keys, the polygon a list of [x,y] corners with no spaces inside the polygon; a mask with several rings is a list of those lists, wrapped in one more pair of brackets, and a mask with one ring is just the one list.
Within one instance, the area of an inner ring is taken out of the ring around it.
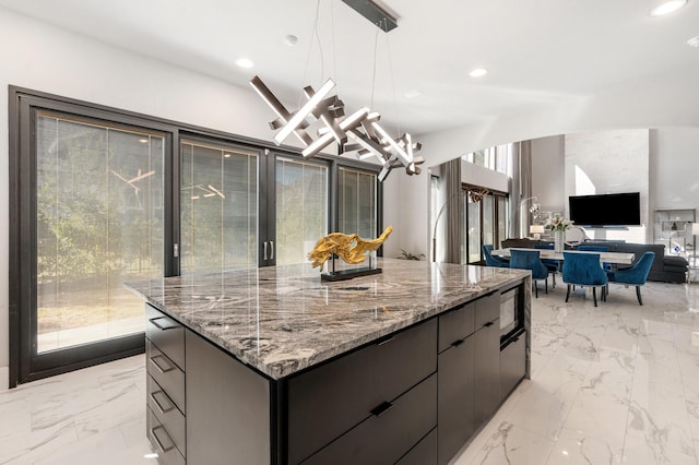
{"label": "glass pane of the leftmost, largest sliding door", "polygon": [[123,282],[163,275],[163,135],[37,112],[37,354],[143,331]]}

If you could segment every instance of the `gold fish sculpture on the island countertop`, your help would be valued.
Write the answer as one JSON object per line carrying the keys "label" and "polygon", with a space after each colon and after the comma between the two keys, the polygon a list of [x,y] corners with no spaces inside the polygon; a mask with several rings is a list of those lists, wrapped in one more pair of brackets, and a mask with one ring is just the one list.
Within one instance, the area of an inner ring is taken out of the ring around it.
{"label": "gold fish sculpture on the island countertop", "polygon": [[333,253],[347,263],[362,263],[366,259],[365,253],[378,249],[392,231],[393,227],[389,226],[376,239],[362,239],[356,234],[331,233],[318,239],[313,249],[308,252],[308,260],[312,267],[320,266],[321,271]]}

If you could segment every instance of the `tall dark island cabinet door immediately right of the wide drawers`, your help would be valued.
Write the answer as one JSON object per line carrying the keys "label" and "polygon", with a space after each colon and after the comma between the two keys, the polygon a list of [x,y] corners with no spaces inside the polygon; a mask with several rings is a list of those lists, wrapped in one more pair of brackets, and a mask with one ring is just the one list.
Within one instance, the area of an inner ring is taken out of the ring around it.
{"label": "tall dark island cabinet door immediately right of the wide drawers", "polygon": [[476,429],[474,418],[475,339],[467,337],[439,354],[439,463],[446,464]]}

